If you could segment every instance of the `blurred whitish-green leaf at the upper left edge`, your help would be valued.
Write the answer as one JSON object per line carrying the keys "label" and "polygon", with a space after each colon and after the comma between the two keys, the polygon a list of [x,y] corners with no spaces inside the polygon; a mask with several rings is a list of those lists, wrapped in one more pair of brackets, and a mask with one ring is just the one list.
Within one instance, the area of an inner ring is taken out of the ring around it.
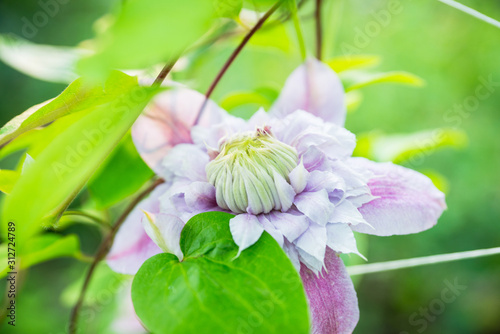
{"label": "blurred whitish-green leaf at the upper left edge", "polygon": [[14,35],[0,35],[0,60],[44,81],[70,83],[75,80],[76,62],[88,53],[84,49],[40,45]]}

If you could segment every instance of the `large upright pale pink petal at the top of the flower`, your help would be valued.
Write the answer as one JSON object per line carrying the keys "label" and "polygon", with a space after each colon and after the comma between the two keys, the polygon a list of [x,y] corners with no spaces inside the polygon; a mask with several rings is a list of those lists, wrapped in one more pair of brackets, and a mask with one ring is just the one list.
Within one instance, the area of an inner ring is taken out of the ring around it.
{"label": "large upright pale pink petal at the top of the flower", "polygon": [[328,65],[316,59],[306,60],[292,72],[271,112],[282,118],[299,109],[344,125],[346,107],[342,82]]}

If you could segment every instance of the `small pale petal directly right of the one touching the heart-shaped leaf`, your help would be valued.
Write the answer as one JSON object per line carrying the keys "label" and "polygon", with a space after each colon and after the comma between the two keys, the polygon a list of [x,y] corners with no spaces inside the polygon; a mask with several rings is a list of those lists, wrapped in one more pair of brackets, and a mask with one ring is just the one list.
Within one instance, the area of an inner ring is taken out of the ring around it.
{"label": "small pale petal directly right of the one touching the heart-shaped leaf", "polygon": [[272,211],[266,217],[290,242],[295,241],[309,228],[307,217],[293,210],[286,213]]}

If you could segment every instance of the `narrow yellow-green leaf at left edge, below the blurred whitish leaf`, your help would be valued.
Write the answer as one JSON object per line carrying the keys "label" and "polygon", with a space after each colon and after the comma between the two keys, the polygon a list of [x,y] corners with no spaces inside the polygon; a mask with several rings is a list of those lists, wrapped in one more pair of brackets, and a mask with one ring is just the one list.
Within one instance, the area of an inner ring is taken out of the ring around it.
{"label": "narrow yellow-green leaf at left edge, below the blurred whitish leaf", "polygon": [[0,146],[26,131],[46,125],[60,117],[109,103],[125,89],[136,84],[137,79],[118,71],[111,73],[104,87],[89,86],[87,80],[77,79],[55,99],[29,108],[2,127]]}

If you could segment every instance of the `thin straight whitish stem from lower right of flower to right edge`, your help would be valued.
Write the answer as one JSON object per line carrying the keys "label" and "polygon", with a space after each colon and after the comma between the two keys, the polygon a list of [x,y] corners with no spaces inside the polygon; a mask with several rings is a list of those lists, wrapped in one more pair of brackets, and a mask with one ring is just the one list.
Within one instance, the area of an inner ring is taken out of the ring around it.
{"label": "thin straight whitish stem from lower right of flower to right edge", "polygon": [[349,273],[349,275],[355,276],[355,275],[378,273],[378,272],[403,269],[403,268],[418,267],[427,264],[451,262],[463,259],[473,259],[477,257],[496,255],[496,254],[500,254],[500,247],[477,249],[473,251],[458,252],[451,254],[416,257],[413,259],[406,259],[406,260],[361,264],[358,266],[347,267],[347,272]]}

